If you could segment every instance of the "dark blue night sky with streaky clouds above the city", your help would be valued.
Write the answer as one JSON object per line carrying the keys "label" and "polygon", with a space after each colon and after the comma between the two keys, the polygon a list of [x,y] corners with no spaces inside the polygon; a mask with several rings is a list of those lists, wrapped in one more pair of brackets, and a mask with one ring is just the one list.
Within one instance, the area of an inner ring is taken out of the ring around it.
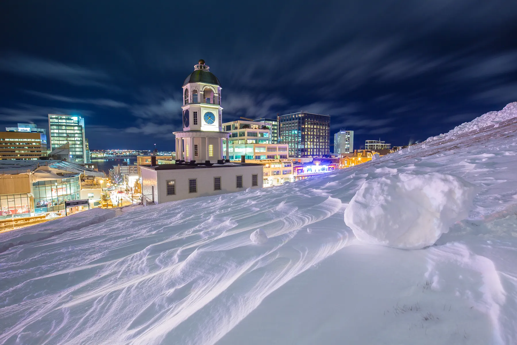
{"label": "dark blue night sky with streaky clouds above the city", "polygon": [[0,32],[0,130],[81,114],[91,149],[174,149],[200,58],[223,121],[330,114],[355,148],[425,140],[517,101],[509,0],[4,0]]}

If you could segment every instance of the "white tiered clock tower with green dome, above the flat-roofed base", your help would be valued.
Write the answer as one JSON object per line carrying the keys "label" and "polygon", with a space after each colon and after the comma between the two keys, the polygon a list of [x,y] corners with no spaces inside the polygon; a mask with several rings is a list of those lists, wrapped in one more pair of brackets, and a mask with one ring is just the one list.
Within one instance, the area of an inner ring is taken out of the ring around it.
{"label": "white tiered clock tower with green dome, above the flat-roofed base", "polygon": [[[183,83],[183,131],[176,136],[176,159],[215,163],[223,158],[221,84],[201,59]],[[226,158],[229,156],[226,140]]]}

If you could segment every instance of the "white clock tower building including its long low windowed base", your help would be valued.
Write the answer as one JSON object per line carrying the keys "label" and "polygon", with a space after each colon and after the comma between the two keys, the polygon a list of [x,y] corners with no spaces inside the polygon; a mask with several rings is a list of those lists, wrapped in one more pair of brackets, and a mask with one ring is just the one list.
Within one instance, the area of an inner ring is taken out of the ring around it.
{"label": "white clock tower building including its long low windowed base", "polygon": [[221,85],[203,60],[185,79],[183,95],[183,131],[174,132],[175,163],[157,164],[153,156],[150,164],[140,166],[145,202],[262,188],[262,164],[223,160],[223,155],[229,157],[230,133],[222,130]]}

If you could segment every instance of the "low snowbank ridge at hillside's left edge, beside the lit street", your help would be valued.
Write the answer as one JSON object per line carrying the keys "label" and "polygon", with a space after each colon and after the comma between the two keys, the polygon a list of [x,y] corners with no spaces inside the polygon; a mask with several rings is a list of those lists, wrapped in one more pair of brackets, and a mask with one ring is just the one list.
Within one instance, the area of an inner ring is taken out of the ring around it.
{"label": "low snowbank ridge at hillside's left edge, beside the lit street", "polygon": [[0,253],[22,244],[42,241],[67,231],[79,230],[114,218],[114,209],[93,208],[64,218],[51,220],[32,227],[0,233]]}

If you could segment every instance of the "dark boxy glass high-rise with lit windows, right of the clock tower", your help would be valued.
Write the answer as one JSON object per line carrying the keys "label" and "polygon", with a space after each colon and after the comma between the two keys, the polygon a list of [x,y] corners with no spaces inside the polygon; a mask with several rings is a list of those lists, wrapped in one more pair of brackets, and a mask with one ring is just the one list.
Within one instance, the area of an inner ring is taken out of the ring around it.
{"label": "dark boxy glass high-rise with lit windows, right of the clock tower", "polygon": [[278,116],[279,143],[289,145],[291,157],[330,154],[330,116],[299,112]]}

